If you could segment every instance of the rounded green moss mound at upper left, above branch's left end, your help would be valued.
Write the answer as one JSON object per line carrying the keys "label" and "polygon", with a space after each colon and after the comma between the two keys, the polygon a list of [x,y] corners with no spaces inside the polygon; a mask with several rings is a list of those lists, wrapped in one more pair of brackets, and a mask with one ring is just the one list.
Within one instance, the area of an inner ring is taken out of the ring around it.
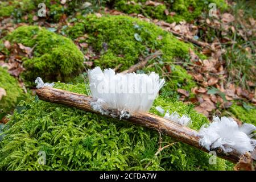
{"label": "rounded green moss mound at upper left, above branch's left end", "polygon": [[33,57],[23,59],[26,68],[23,77],[26,81],[32,82],[38,76],[46,81],[68,81],[83,68],[84,56],[72,40],[46,28],[18,27],[3,39],[9,40],[11,44],[22,43],[24,46],[34,47]]}

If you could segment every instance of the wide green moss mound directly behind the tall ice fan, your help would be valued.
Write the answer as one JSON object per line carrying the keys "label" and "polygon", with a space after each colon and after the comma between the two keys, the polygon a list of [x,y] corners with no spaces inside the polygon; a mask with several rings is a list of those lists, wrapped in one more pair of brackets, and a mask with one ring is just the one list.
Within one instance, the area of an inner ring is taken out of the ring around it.
{"label": "wide green moss mound directly behind the tall ice fan", "polygon": [[75,26],[69,27],[67,34],[73,39],[88,34],[89,38],[85,42],[100,56],[94,63],[109,68],[122,63],[121,70],[137,63],[139,57],[146,57],[151,51],[161,50],[161,59],[166,62],[175,57],[185,57],[189,47],[192,48],[191,44],[177,40],[155,24],[130,16],[97,18],[88,15]]}

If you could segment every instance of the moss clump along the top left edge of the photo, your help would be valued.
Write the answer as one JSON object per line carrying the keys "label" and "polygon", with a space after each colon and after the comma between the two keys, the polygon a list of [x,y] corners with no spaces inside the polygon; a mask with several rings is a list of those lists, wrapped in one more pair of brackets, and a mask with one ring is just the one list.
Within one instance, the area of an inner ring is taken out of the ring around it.
{"label": "moss clump along the top left edge of the photo", "polygon": [[108,0],[92,1],[88,0],[87,3],[91,3],[89,7],[85,6],[85,1],[67,1],[65,4],[61,4],[59,0],[7,0],[0,2],[0,17],[12,16],[15,22],[34,22],[33,16],[38,15],[40,3],[44,3],[46,7],[46,18],[48,22],[59,22],[64,16],[74,15],[79,12],[81,14],[92,13],[97,11],[102,6],[105,6]]}

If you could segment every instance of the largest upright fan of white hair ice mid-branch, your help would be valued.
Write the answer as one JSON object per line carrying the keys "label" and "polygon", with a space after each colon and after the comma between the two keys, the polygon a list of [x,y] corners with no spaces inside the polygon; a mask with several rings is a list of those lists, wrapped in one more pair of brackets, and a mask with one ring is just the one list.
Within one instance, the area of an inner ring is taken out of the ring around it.
{"label": "largest upright fan of white hair ice mid-branch", "polygon": [[101,71],[96,67],[88,72],[89,86],[94,99],[101,98],[113,109],[148,111],[164,80],[154,72],[150,75],[117,73],[113,69]]}

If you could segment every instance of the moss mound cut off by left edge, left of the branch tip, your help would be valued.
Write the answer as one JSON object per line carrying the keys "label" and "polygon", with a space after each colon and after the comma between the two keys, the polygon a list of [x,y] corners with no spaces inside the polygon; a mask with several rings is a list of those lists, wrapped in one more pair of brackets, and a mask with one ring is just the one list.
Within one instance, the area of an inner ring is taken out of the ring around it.
{"label": "moss mound cut off by left edge, left of the branch tip", "polygon": [[[0,67],[0,88],[5,89],[6,96],[0,100],[1,113],[7,113],[16,105],[18,97],[23,97],[23,91],[18,85],[18,81],[10,76],[6,69]],[[0,118],[1,119],[1,118]]]}

